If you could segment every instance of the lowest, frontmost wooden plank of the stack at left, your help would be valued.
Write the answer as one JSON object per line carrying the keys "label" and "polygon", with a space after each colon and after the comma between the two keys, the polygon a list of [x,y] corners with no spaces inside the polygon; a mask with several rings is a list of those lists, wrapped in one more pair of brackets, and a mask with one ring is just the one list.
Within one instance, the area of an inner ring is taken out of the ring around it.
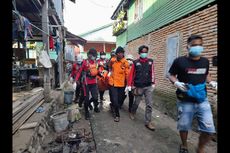
{"label": "lowest, frontmost wooden plank of the stack at left", "polygon": [[35,112],[35,110],[44,103],[45,100],[40,101],[35,107],[27,111],[15,124],[13,124],[13,134],[22,126],[22,124]]}

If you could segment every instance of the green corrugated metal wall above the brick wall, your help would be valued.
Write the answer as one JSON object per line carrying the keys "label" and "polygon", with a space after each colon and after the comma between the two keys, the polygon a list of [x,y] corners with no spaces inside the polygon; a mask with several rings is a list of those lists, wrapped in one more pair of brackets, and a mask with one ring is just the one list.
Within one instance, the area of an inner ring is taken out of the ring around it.
{"label": "green corrugated metal wall above the brick wall", "polygon": [[[145,12],[142,20],[128,26],[127,41],[155,31],[214,1],[215,0],[158,0],[154,3],[155,6],[151,6],[149,10]],[[131,14],[129,14],[129,16],[131,16]]]}

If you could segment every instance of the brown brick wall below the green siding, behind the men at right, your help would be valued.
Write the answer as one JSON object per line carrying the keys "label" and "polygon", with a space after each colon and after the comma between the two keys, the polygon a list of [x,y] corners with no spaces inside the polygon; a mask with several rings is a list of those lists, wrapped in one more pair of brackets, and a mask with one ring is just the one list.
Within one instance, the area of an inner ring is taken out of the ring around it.
{"label": "brown brick wall below the green siding, behind the men at right", "polygon": [[[203,36],[203,56],[210,61],[210,74],[213,80],[217,80],[217,67],[212,65],[212,57],[217,55],[217,5],[200,10],[190,16],[165,26],[157,31],[128,43],[127,52],[138,57],[137,49],[140,45],[148,45],[149,56],[155,57],[156,92],[169,99],[175,100],[175,87],[165,78],[166,41],[168,35],[179,32],[180,55],[187,54],[186,41],[190,34]],[[216,111],[216,91],[208,88],[208,97]]]}

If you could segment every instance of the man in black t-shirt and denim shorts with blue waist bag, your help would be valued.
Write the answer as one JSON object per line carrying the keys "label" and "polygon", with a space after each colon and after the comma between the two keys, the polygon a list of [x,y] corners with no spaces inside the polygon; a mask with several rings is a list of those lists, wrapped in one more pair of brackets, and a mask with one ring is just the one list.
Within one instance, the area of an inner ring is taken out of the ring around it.
{"label": "man in black t-shirt and denim shorts with blue waist bag", "polygon": [[202,43],[201,36],[190,36],[187,41],[189,54],[175,59],[169,69],[169,79],[177,87],[177,129],[182,141],[179,153],[188,153],[187,136],[193,118],[197,118],[198,129],[201,132],[197,153],[204,153],[204,147],[211,134],[215,133],[206,82],[213,88],[217,88],[217,82],[211,81],[208,59],[201,57]]}

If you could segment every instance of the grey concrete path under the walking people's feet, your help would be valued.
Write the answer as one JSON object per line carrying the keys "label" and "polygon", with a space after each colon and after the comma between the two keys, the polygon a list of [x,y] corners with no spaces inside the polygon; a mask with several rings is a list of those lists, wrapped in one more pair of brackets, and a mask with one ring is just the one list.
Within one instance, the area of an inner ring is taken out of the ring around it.
{"label": "grey concrete path under the walking people's feet", "polygon": [[[144,126],[144,108],[141,102],[135,120],[129,118],[126,99],[120,110],[120,122],[114,122],[109,110],[108,92],[100,113],[92,112],[90,120],[98,153],[178,153],[180,138],[176,122],[169,116],[153,109],[156,130]],[[195,153],[198,134],[189,133],[189,152]],[[217,144],[210,142],[207,153],[217,153]]]}

